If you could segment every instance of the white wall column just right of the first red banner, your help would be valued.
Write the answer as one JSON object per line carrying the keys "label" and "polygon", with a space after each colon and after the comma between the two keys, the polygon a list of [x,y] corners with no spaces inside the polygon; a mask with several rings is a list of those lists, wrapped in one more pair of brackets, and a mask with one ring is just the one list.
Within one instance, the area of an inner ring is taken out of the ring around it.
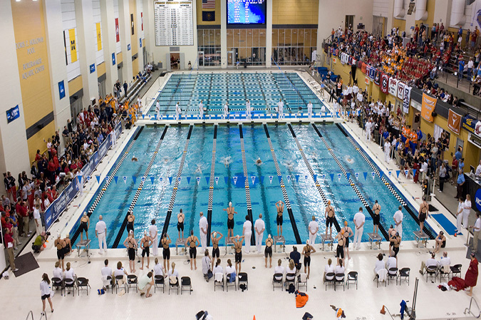
{"label": "white wall column just right of the first red banner", "polygon": [[130,11],[128,2],[128,0],[118,0],[118,27],[120,28],[120,43],[122,43],[123,57],[122,78],[127,83],[132,78],[132,49],[128,50],[128,47],[130,47]]}

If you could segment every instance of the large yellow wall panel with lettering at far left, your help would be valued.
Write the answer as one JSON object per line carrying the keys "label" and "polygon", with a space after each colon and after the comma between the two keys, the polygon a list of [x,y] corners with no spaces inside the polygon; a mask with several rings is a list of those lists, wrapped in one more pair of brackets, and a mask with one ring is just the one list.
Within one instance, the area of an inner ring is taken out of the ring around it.
{"label": "large yellow wall panel with lettering at far left", "polygon": [[26,128],[53,111],[43,1],[11,0]]}

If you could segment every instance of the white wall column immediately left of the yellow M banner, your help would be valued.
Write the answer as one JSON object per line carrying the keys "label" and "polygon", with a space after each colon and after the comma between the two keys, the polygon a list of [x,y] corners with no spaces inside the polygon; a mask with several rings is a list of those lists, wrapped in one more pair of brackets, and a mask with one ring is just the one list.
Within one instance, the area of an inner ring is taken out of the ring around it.
{"label": "white wall column immediately left of the yellow M banner", "polygon": [[[59,63],[59,61],[65,61],[63,36],[61,32],[58,32],[63,29],[60,0],[43,1],[43,8],[45,11],[48,68],[52,88],[53,119],[56,130],[60,130],[61,133],[63,126],[67,124],[68,119],[72,118],[72,115],[70,99],[68,98],[70,95],[68,93],[67,67],[65,63]],[[65,96],[62,99],[60,99],[58,87],[58,83],[61,81],[63,81],[65,90]],[[63,138],[61,140],[63,143]],[[63,148],[63,145],[61,147]]]}

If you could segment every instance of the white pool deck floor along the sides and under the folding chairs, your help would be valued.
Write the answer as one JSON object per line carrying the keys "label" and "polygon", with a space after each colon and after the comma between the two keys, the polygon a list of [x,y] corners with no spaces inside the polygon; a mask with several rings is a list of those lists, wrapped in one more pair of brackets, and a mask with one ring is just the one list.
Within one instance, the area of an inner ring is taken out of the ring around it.
{"label": "white pool deck floor along the sides and under the folding chairs", "polygon": [[[301,73],[304,78],[309,78],[308,73]],[[162,85],[163,79],[158,80],[150,91],[145,94],[143,104],[145,109],[148,108],[148,103],[151,97],[155,96],[158,88]],[[150,97],[150,98],[148,98]],[[406,180],[402,175],[399,178],[395,177],[394,162],[390,165],[383,162],[383,153],[381,148],[374,144],[366,144],[363,133],[358,128],[356,123],[346,123],[346,128],[353,135],[358,143],[367,150],[368,154],[376,161],[376,163],[385,170],[387,175],[388,170],[393,170],[391,180],[403,192],[406,198],[410,200],[416,209],[420,203],[420,187],[415,185],[412,180]],[[108,172],[109,168],[118,158],[118,155],[123,150],[123,146],[128,142],[133,130],[127,130],[118,139],[118,144],[112,150],[109,150],[108,155],[100,163],[97,171],[100,172],[103,178]],[[78,216],[81,215],[81,209],[86,207],[90,197],[95,193],[97,184],[95,179],[90,180],[83,189],[83,194],[76,197],[68,207],[68,210],[63,213],[61,220],[53,224],[51,229],[52,238],[48,242],[47,248],[41,254],[34,254],[37,259],[39,268],[31,272],[15,277],[12,272],[9,279],[0,279],[0,300],[2,301],[2,314],[0,319],[24,319],[29,311],[33,311],[33,319],[40,319],[41,314],[41,299],[39,283],[41,275],[46,272],[49,277],[52,277],[52,270],[56,262],[56,250],[53,248],[53,236],[57,233],[65,235],[75,224]],[[443,205],[434,197],[431,202],[435,207],[443,208]],[[448,219],[455,224],[455,219],[448,212],[448,210],[440,209],[440,213],[445,214]],[[440,230],[440,226],[432,219],[428,219],[431,227],[436,232]],[[94,223],[94,222],[93,222]],[[371,230],[365,230],[371,232]],[[466,259],[466,235],[458,237],[448,236],[448,241],[445,250],[451,259],[452,264],[462,264],[462,277],[464,278],[467,270],[469,259]],[[90,235],[92,237],[92,235]],[[317,238],[320,242],[320,237]],[[246,319],[246,320],[262,320],[262,319],[302,319],[305,312],[309,312],[314,316],[314,319],[336,319],[335,312],[330,305],[333,304],[341,307],[346,314],[346,319],[391,319],[391,316],[386,312],[381,314],[381,308],[386,306],[388,311],[393,314],[394,319],[400,319],[400,301],[408,301],[408,306],[411,306],[413,301],[413,291],[415,278],[419,278],[418,295],[416,301],[417,319],[462,319],[474,318],[470,315],[465,315],[463,312],[470,304],[470,296],[467,296],[465,291],[441,291],[438,289],[440,279],[437,277],[435,282],[430,279],[426,282],[426,277],[421,276],[418,272],[421,261],[425,261],[430,256],[429,250],[432,249],[433,240],[428,242],[427,248],[418,248],[415,242],[403,242],[398,254],[398,267],[409,267],[410,284],[407,283],[396,285],[391,282],[387,287],[383,284],[376,287],[376,282],[373,282],[373,268],[379,252],[388,254],[388,243],[381,244],[381,250],[370,249],[368,243],[363,243],[360,250],[351,251],[351,259],[346,260],[346,274],[351,271],[358,272],[358,288],[349,286],[343,291],[342,287],[337,287],[336,291],[332,287],[328,287],[327,291],[322,283],[322,275],[324,273],[324,266],[327,259],[331,258],[335,262],[334,253],[328,251],[329,247],[325,247],[326,251],[321,250],[319,243],[315,244],[317,252],[312,255],[311,261],[311,277],[308,281],[308,288],[301,288],[309,295],[309,301],[306,306],[301,309],[296,308],[296,300],[294,294],[289,294],[285,290],[276,288],[272,290],[272,276],[274,274],[274,266],[278,259],[281,259],[282,265],[287,266],[287,255],[291,251],[291,246],[286,246],[286,253],[277,250],[272,257],[272,269],[264,267],[264,255],[262,254],[243,254],[242,272],[247,272],[249,277],[249,289],[242,292],[241,290],[234,291],[229,287],[229,291],[222,291],[217,288],[214,291],[214,281],[205,282],[202,276],[201,257],[197,257],[197,270],[191,271],[190,264],[187,262],[185,255],[175,255],[175,249],[171,249],[172,257],[170,262],[176,263],[180,277],[190,277],[192,279],[192,292],[184,291],[183,294],[177,295],[175,291],[168,294],[168,289],[165,293],[157,289],[157,292],[152,292],[152,297],[145,298],[140,294],[130,290],[129,293],[123,295],[111,294],[107,291],[105,294],[99,296],[97,289],[102,287],[100,280],[100,269],[103,267],[103,260],[108,258],[110,267],[115,268],[118,261],[123,262],[124,267],[128,269],[128,257],[125,249],[109,249],[105,254],[100,255],[97,249],[91,249],[90,262],[86,252],[81,252],[81,257],[78,257],[77,252],[73,252],[66,257],[66,262],[71,262],[75,273],[78,277],[86,277],[90,279],[91,290],[88,296],[85,291],[81,291],[78,296],[77,291],[75,296],[67,294],[61,296],[59,292],[53,297],[54,312],[51,314],[47,304],[48,319],[195,319],[195,314],[200,310],[207,310],[212,315],[213,319]],[[24,249],[21,254],[29,252],[29,247]],[[299,250],[302,245],[297,246]],[[252,249],[254,249],[252,247]],[[351,246],[352,249],[352,246]],[[200,252],[200,249],[198,250]],[[162,257],[159,257],[160,260]],[[438,257],[440,258],[440,254]],[[150,269],[153,267],[153,259],[151,257]],[[222,266],[225,267],[227,259],[234,261],[234,254],[229,253],[224,255],[224,249],[221,249]],[[387,257],[385,258],[385,260]],[[136,264],[138,277],[148,272],[148,269],[140,270],[140,264]],[[304,270],[304,267],[302,271]],[[443,279],[445,282],[445,279]],[[475,287],[473,296],[477,301],[481,301],[481,289]],[[473,306],[472,311],[477,314],[479,311],[476,306]],[[397,314],[397,316],[395,316]]]}

